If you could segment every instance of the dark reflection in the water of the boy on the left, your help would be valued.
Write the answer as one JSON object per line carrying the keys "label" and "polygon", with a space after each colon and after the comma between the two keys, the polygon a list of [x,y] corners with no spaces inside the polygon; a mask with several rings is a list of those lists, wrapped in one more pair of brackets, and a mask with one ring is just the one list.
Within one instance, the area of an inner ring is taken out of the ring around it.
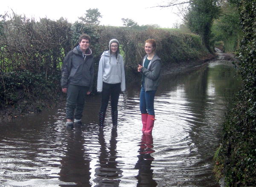
{"label": "dark reflection in the water of the boy on the left", "polygon": [[84,154],[84,137],[80,128],[67,129],[66,156],[61,160],[60,180],[76,184],[60,184],[61,187],[91,187],[90,160]]}

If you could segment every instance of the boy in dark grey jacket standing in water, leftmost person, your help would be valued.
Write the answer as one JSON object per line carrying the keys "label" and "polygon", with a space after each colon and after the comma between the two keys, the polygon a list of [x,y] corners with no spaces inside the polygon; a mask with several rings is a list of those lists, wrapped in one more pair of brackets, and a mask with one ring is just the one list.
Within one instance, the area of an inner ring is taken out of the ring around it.
{"label": "boy in dark grey jacket standing in water, leftmost person", "polygon": [[61,68],[62,92],[67,93],[66,126],[70,128],[74,122],[81,125],[84,100],[93,89],[94,59],[89,46],[90,36],[81,35],[79,45],[68,52]]}

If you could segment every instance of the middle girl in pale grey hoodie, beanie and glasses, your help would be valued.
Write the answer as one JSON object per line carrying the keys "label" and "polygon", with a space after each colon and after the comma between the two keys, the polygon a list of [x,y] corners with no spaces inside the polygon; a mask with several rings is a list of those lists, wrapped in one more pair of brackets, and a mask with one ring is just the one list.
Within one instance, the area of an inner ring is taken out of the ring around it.
{"label": "middle girl in pale grey hoodie, beanie and glasses", "polygon": [[99,126],[104,127],[108,101],[111,97],[111,117],[113,126],[117,125],[117,104],[120,91],[125,91],[125,68],[122,55],[119,54],[119,42],[112,39],[109,51],[102,53],[99,60],[97,91],[102,93],[99,111]]}

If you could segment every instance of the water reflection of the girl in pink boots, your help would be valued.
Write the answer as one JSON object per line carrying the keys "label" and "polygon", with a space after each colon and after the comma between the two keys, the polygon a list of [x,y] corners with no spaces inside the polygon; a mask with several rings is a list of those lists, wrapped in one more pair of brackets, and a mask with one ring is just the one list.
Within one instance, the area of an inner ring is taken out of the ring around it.
{"label": "water reflection of the girl in pink boots", "polygon": [[151,156],[152,152],[155,152],[153,148],[153,137],[151,133],[143,133],[140,142],[139,159],[135,164],[135,169],[139,170],[139,174],[136,176],[138,179],[137,187],[156,187],[157,182],[153,179],[153,170],[151,169],[151,163],[154,158]]}

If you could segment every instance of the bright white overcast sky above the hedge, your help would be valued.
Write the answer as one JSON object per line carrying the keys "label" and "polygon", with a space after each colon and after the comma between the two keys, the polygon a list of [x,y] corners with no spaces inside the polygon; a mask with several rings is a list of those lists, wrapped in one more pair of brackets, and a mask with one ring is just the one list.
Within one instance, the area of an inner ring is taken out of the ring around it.
{"label": "bright white overcast sky above the hedge", "polygon": [[[129,18],[139,25],[158,24],[172,28],[181,22],[175,8],[150,8],[166,4],[168,0],[1,0],[0,14],[25,14],[26,17],[47,17],[58,20],[67,18],[71,23],[86,13],[87,9],[99,9],[101,25],[122,26],[122,18]],[[12,10],[11,10],[12,9]]]}

